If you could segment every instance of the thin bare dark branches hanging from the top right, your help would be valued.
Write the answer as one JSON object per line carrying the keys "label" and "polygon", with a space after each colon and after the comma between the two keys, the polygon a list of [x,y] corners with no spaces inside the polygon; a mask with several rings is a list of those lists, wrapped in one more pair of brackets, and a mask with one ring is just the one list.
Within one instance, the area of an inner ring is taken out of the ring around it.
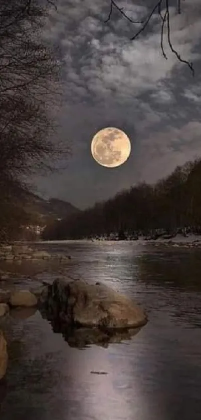
{"label": "thin bare dark branches hanging from the top right", "polygon": [[[142,21],[135,21],[131,19],[128,16],[128,14],[124,11],[124,8],[120,8],[116,1],[114,0],[109,0],[109,1],[110,1],[110,11],[109,11],[109,14],[105,23],[108,23],[111,20],[113,11],[114,9],[116,9],[122,15],[122,17],[125,18],[128,22],[132,24],[138,24],[138,25],[140,24],[140,28],[136,31],[136,33],[130,39],[131,41],[135,41],[145,31],[152,17],[155,14],[158,14],[159,19],[161,20],[161,51],[164,58],[168,60],[168,57],[164,49],[164,35],[165,35],[165,28],[167,28],[167,41],[168,41],[170,50],[172,51],[173,54],[175,54],[175,56],[181,63],[186,64],[190,68],[193,76],[195,76],[195,70],[194,70],[193,64],[187,60],[184,60],[179,54],[179,52],[174,48],[173,43],[172,43],[171,31],[170,31],[170,0],[157,0],[155,6],[152,8],[148,16],[146,16],[145,19],[143,19]],[[178,14],[180,15],[181,14],[181,0],[175,0],[175,5],[177,8]],[[162,13],[162,11],[164,12]]]}

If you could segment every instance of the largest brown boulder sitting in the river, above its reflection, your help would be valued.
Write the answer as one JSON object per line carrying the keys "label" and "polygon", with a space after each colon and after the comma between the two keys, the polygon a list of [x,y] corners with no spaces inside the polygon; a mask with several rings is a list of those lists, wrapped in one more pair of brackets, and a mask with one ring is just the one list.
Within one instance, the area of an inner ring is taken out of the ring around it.
{"label": "largest brown boulder sitting in the river, above its reflection", "polygon": [[131,328],[147,322],[144,310],[103,284],[56,279],[39,300],[52,317],[85,327]]}

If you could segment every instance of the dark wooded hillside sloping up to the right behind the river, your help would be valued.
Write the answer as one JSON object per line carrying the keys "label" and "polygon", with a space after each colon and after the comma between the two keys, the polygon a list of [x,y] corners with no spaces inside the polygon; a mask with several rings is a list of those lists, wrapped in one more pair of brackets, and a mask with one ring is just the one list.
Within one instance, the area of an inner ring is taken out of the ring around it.
{"label": "dark wooded hillside sloping up to the right behind the river", "polygon": [[108,201],[46,227],[43,239],[81,239],[119,234],[156,234],[163,229],[200,231],[201,159],[177,167],[155,185],[141,183]]}

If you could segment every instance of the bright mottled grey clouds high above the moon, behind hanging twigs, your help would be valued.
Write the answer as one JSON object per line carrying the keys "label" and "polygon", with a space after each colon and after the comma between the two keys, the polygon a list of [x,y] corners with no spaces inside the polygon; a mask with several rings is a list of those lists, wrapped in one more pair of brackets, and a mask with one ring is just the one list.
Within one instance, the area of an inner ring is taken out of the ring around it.
{"label": "bright mottled grey clouds high above the moon, behind hanging twigs", "polygon": [[[57,39],[63,47],[67,93],[72,94],[75,90],[79,96],[77,100],[87,93],[92,97],[97,94],[98,99],[115,93],[117,100],[128,100],[142,91],[157,90],[159,82],[171,78],[173,70],[182,66],[170,51],[167,29],[164,48],[168,60],[164,59],[160,50],[159,21],[151,34],[129,42],[128,25],[120,14],[118,17],[115,15],[114,20],[112,18],[111,25],[103,23],[106,5],[109,2],[63,0],[58,6],[58,13],[52,12],[53,23],[50,21],[46,27],[46,37],[54,41]],[[128,2],[126,6],[128,13],[132,10],[134,19],[146,15],[145,7],[135,7]],[[189,61],[200,58],[194,52],[201,32],[196,6],[197,2],[186,2],[180,17],[175,9],[171,9],[172,43]]]}

